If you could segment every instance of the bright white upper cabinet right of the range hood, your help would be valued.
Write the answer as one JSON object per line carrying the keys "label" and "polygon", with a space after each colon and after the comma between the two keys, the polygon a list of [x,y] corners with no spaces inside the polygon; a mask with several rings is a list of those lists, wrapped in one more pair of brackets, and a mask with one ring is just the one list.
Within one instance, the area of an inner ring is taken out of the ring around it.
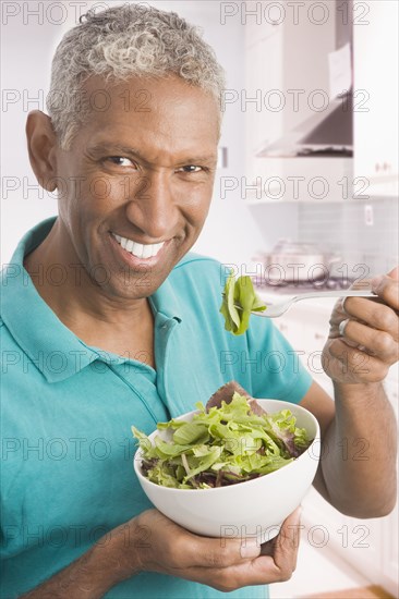
{"label": "bright white upper cabinet right of the range hood", "polygon": [[398,196],[398,2],[361,2],[353,25],[354,176],[362,195]]}

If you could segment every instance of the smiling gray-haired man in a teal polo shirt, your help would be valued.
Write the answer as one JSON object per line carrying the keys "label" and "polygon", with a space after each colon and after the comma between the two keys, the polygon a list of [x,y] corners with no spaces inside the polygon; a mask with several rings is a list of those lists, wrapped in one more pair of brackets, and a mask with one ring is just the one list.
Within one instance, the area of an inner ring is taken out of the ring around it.
{"label": "smiling gray-haired man in a teal polo shirt", "polygon": [[[58,188],[59,216],[22,240],[2,280],[4,597],[246,599],[287,579],[298,513],[265,547],[220,542],[150,509],[132,472],[131,425],[150,432],[231,379],[316,415],[325,457],[315,486],[336,508],[374,517],[395,504],[382,380],[398,359],[397,272],[374,281],[380,303],[334,310],[324,364],[335,408],[269,320],[241,338],[223,330],[220,265],[189,253],[211,197],[222,86],[183,20],[128,5],[66,34],[50,117],[28,115],[31,162]],[[221,368],[234,352],[271,365]],[[340,440],[360,437],[367,461],[342,461]]]}

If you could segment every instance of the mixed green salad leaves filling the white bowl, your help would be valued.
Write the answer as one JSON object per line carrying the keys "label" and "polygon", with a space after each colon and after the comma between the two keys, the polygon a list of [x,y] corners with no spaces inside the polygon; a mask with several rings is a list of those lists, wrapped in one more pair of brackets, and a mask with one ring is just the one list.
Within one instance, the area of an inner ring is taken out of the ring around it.
{"label": "mixed green salad leaves filling the white bowl", "polygon": [[159,423],[170,441],[148,437],[132,427],[143,450],[143,473],[157,485],[209,489],[264,476],[289,464],[310,445],[289,409],[256,415],[246,398],[234,393],[229,404],[202,403],[190,423]]}

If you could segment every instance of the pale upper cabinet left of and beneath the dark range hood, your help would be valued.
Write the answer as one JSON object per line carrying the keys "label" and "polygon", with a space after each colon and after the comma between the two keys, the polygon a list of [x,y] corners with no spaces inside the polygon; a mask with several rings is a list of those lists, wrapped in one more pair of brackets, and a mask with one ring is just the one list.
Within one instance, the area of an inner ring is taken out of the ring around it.
{"label": "pale upper cabinet left of and beneath the dark range hood", "polygon": [[[348,185],[352,187],[351,158],[256,156],[329,106],[327,57],[336,49],[335,3],[319,3],[318,9],[303,4],[301,10],[297,7],[298,13],[293,4],[257,2],[262,15],[246,17],[241,97],[246,188],[242,195],[250,204],[336,201],[347,194]],[[327,11],[324,19],[323,10]]]}

